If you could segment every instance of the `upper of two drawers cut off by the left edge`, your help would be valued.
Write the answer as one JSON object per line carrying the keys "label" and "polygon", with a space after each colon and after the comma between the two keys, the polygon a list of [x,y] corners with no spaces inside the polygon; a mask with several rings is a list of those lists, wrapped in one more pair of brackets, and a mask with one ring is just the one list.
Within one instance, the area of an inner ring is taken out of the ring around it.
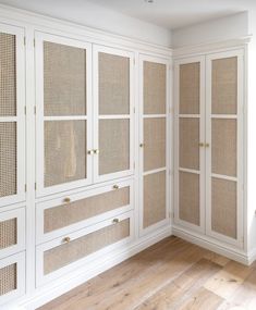
{"label": "upper of two drawers cut off by the left edge", "polygon": [[25,209],[0,213],[0,259],[25,249]]}

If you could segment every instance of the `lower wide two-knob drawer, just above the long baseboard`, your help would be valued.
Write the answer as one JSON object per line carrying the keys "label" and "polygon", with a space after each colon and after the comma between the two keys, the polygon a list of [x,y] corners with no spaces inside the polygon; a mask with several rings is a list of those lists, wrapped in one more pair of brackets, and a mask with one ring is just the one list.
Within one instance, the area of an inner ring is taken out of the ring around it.
{"label": "lower wide two-knob drawer, just above the long baseboard", "polygon": [[87,262],[95,261],[134,236],[133,212],[37,247],[37,285],[47,283]]}

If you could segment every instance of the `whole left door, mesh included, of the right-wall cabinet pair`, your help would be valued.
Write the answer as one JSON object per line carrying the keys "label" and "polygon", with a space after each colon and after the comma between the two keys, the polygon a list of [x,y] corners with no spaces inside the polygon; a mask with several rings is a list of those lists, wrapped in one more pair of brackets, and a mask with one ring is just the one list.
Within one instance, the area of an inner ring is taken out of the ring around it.
{"label": "whole left door, mesh included, of the right-wall cabinet pair", "polygon": [[205,58],[175,62],[174,221],[205,230]]}

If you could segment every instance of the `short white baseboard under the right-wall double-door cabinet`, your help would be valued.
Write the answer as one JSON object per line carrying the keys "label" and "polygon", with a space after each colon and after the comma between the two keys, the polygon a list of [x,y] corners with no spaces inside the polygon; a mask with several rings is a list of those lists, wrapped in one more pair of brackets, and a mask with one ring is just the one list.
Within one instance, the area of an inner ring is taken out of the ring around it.
{"label": "short white baseboard under the right-wall double-door cabinet", "polygon": [[[202,248],[217,252],[221,256],[224,256],[229,259],[237,261],[242,264],[249,265],[252,262],[252,260],[249,259],[248,255],[245,251],[240,250],[240,249],[234,249],[231,246],[227,244],[221,244],[217,240],[215,241],[212,238],[209,238],[204,235],[199,235],[198,233],[191,232],[191,231],[188,232],[183,227],[173,225],[172,234],[188,243],[192,243]],[[255,252],[255,256],[256,256],[256,252]]]}

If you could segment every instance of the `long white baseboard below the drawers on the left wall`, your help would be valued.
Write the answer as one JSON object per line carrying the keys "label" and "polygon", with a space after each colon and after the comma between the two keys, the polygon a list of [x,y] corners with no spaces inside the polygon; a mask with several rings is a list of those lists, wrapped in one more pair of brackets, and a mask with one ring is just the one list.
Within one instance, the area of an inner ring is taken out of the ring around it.
{"label": "long white baseboard below the drawers on the left wall", "polygon": [[65,294],[66,292],[75,288],[76,286],[87,282],[94,276],[107,271],[108,269],[121,263],[122,261],[133,257],[142,250],[150,247],[151,245],[162,240],[172,235],[171,226],[166,226],[147,236],[135,240],[131,245],[123,246],[114,253],[109,253],[102,259],[86,265],[82,270],[75,271],[60,281],[54,281],[53,284],[46,287],[38,288],[36,293],[20,302],[17,309],[35,310],[36,308],[51,301],[52,299]]}

